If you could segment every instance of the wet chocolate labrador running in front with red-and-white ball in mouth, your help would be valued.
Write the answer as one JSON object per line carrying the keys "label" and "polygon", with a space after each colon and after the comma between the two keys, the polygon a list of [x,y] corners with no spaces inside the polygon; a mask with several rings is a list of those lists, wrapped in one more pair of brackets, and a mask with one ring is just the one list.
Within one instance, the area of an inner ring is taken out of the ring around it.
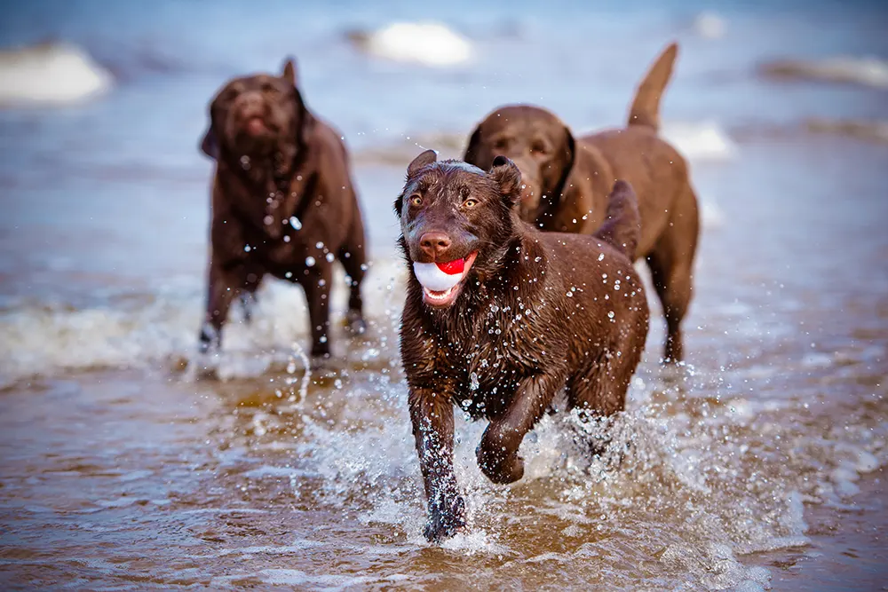
{"label": "wet chocolate labrador running in front with red-and-white ball in mouth", "polygon": [[465,525],[452,406],[488,419],[478,463],[511,483],[524,473],[521,441],[563,388],[570,407],[622,410],[647,335],[630,185],[614,184],[592,236],[542,233],[519,218],[518,167],[503,156],[491,164],[426,151],[394,204],[410,270],[400,352],[430,541]]}

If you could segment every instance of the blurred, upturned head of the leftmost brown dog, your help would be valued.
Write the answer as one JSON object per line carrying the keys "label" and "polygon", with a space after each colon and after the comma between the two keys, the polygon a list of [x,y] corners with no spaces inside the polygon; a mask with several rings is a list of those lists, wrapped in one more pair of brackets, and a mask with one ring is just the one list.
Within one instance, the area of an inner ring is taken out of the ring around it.
{"label": "blurred, upturned head of the leftmost brown dog", "polygon": [[310,121],[297,90],[296,67],[288,59],[280,76],[234,78],[217,92],[201,149],[216,160],[223,154],[241,159],[283,153],[291,158],[304,145]]}

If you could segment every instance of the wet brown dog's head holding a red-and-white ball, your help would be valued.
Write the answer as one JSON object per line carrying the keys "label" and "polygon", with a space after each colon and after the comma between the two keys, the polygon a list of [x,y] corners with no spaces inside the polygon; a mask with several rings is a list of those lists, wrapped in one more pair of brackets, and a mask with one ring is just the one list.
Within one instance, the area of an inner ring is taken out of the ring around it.
{"label": "wet brown dog's head holding a red-and-white ball", "polygon": [[520,222],[521,173],[499,157],[487,172],[460,161],[437,162],[426,150],[410,163],[407,183],[394,203],[400,245],[423,300],[436,308],[454,304],[464,289],[493,276]]}

